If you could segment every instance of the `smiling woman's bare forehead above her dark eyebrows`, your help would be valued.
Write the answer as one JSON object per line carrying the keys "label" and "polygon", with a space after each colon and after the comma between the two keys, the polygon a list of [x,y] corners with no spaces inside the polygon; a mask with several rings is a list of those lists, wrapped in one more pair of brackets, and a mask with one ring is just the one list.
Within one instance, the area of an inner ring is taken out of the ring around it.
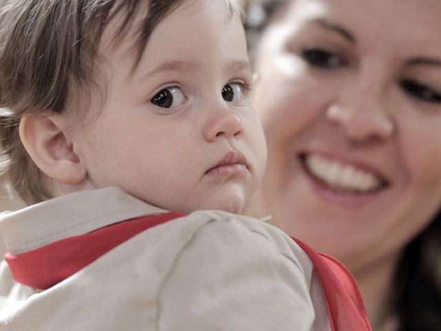
{"label": "smiling woman's bare forehead above her dark eyebrows", "polygon": [[284,12],[279,20],[293,28],[327,21],[356,40],[407,43],[413,48],[418,44],[431,53],[441,52],[439,0],[292,0]]}

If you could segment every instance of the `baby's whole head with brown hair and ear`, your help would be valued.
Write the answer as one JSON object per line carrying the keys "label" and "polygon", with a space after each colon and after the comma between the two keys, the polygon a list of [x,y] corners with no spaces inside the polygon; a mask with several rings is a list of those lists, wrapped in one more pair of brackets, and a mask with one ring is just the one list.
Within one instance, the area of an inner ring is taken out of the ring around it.
{"label": "baby's whole head with brown hair and ear", "polygon": [[227,0],[0,1],[1,135],[28,203],[119,186],[240,212],[266,147]]}

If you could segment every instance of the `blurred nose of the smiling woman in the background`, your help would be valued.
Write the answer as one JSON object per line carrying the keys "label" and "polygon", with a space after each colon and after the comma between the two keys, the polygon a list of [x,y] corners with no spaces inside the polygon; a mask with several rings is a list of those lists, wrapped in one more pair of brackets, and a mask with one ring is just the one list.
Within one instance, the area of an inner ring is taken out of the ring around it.
{"label": "blurred nose of the smiling woman in the background", "polygon": [[[329,121],[338,124],[353,141],[384,141],[393,134],[394,123],[380,93],[345,90],[327,108]],[[344,96],[350,97],[345,98]]]}

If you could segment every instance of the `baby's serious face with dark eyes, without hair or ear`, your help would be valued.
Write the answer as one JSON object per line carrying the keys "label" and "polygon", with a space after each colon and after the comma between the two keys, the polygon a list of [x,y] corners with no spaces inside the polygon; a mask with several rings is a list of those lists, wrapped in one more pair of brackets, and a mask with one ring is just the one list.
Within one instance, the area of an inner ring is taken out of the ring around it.
{"label": "baby's serious face with dark eyes, without hair or ear", "polygon": [[95,188],[167,210],[240,212],[266,163],[245,35],[225,1],[191,3],[156,27],[132,75],[134,39],[108,46],[110,23],[99,48],[105,104],[75,130],[74,149]]}

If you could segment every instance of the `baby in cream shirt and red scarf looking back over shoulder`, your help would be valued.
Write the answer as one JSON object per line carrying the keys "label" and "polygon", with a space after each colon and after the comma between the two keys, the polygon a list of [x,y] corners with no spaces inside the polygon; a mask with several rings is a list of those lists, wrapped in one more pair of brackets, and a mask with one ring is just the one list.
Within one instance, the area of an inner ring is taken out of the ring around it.
{"label": "baby in cream shirt and red scarf looking back over shoulder", "polygon": [[233,1],[0,1],[1,164],[30,205],[0,223],[1,330],[343,330],[338,295],[369,330],[318,254],[236,215],[266,162],[252,77]]}

